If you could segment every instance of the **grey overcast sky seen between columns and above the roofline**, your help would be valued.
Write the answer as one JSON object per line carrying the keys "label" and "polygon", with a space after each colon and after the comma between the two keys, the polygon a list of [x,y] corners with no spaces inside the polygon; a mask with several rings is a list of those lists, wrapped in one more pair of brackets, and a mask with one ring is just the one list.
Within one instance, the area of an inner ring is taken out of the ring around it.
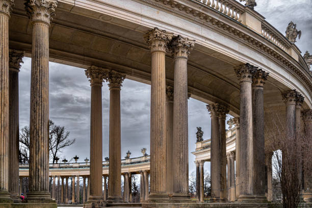
{"label": "grey overcast sky seen between columns and above the roofline", "polygon": [[[266,17],[282,34],[288,23],[297,23],[302,37],[297,46],[304,53],[312,52],[312,0],[258,0],[255,10]],[[30,118],[30,74],[31,59],[24,58],[19,72],[19,110],[20,128],[29,125]],[[50,119],[57,125],[65,126],[70,138],[76,143],[64,149],[61,159],[70,160],[77,154],[83,162],[90,158],[90,92],[91,87],[84,69],[50,63],[49,70],[49,106]],[[103,155],[109,155],[109,88],[107,83],[102,87],[103,112]],[[130,150],[131,157],[141,156],[141,148],[149,147],[150,124],[150,86],[131,80],[125,80],[121,88],[121,157]],[[195,170],[196,126],[201,126],[203,138],[210,138],[210,115],[205,103],[190,98],[189,100],[189,173]],[[210,170],[209,164],[205,169]]]}

